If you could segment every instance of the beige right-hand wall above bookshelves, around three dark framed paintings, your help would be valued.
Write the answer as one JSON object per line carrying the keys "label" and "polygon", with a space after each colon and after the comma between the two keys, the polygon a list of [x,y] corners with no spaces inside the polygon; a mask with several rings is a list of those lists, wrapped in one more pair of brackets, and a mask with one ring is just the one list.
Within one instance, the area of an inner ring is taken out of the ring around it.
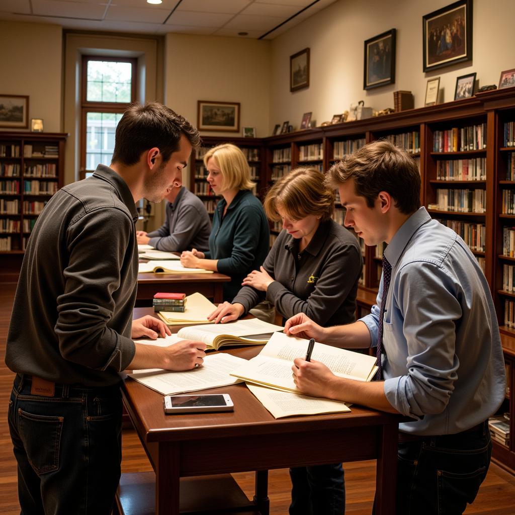
{"label": "beige right-hand wall above bookshelves, around three dark framed paintings", "polygon": [[[477,72],[479,85],[497,84],[513,60],[513,0],[475,0],[473,7],[473,61],[431,73],[422,72],[422,16],[449,5],[449,0],[340,0],[272,40],[270,125],[288,120],[299,127],[302,114],[312,111],[320,125],[333,114],[364,100],[381,110],[393,107],[393,91],[415,95],[415,107],[424,105],[427,79],[440,77],[440,101],[454,99],[456,77]],[[364,41],[397,29],[396,81],[375,90],[363,90]],[[290,93],[289,56],[310,47],[310,87]]]}

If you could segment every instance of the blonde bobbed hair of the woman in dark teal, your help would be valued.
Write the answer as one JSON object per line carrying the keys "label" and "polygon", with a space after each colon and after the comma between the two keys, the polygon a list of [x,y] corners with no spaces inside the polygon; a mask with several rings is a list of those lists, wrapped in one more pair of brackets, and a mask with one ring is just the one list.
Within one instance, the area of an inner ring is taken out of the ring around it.
{"label": "blonde bobbed hair of the woman in dark teal", "polygon": [[215,158],[221,170],[224,190],[252,190],[249,163],[236,145],[224,143],[209,149],[204,156],[206,167],[211,158]]}

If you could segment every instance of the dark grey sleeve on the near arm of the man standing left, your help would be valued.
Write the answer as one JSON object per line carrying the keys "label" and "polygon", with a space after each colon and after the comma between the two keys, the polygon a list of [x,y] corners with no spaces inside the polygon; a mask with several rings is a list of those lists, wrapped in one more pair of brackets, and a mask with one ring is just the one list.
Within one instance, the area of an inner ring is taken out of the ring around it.
{"label": "dark grey sleeve on the near arm of the man standing left", "polygon": [[131,231],[132,220],[116,208],[88,213],[68,228],[70,259],[63,268],[65,288],[57,298],[55,325],[67,361],[116,371],[132,361],[134,342],[108,327],[115,310],[112,294],[120,287],[122,268],[131,263]]}

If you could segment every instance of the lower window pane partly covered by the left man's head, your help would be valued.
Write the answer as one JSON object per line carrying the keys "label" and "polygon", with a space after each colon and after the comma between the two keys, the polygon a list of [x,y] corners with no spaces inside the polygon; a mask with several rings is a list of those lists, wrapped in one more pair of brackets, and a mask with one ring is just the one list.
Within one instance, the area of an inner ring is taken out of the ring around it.
{"label": "lower window pane partly covered by the left man's head", "polygon": [[98,163],[109,166],[116,125],[122,116],[123,113],[86,114],[86,169],[94,170]]}

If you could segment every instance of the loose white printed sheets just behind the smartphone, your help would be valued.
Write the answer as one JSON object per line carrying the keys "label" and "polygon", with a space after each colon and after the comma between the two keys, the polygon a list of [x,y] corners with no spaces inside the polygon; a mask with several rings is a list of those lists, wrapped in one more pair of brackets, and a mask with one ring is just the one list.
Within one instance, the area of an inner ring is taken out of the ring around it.
{"label": "loose white printed sheets just behind the smartphone", "polygon": [[212,354],[204,358],[201,367],[192,370],[139,370],[128,376],[163,395],[173,395],[241,383],[241,379],[229,374],[245,362],[231,354]]}

